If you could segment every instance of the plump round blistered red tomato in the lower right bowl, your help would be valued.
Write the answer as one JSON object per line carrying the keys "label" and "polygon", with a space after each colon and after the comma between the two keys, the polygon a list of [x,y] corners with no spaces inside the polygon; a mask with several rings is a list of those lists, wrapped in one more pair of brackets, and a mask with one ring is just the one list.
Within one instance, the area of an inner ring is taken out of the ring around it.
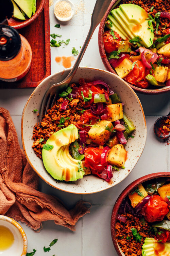
{"label": "plump round blistered red tomato in the lower right bowl", "polygon": [[143,210],[148,222],[162,221],[169,212],[168,204],[160,196],[152,196]]}

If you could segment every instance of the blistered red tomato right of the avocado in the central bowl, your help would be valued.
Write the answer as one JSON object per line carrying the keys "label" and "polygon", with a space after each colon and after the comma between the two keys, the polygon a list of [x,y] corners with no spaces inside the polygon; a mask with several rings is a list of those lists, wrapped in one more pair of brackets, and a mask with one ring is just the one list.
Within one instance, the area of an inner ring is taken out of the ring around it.
{"label": "blistered red tomato right of the avocado in the central bowl", "polygon": [[100,159],[103,149],[96,147],[89,147],[85,149],[85,166],[90,167],[93,174],[97,174],[101,177],[101,172],[103,171],[105,164],[101,165]]}

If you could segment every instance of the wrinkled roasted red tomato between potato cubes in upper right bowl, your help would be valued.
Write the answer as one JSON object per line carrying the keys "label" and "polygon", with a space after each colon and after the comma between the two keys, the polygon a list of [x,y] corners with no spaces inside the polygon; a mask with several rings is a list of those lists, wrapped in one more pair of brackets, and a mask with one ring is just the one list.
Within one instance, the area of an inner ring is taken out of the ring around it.
{"label": "wrinkled roasted red tomato between potato cubes in upper right bowl", "polygon": [[148,69],[145,68],[142,61],[136,60],[136,64],[132,71],[125,77],[125,80],[139,88],[147,88],[148,82],[145,79],[145,76],[148,73]]}

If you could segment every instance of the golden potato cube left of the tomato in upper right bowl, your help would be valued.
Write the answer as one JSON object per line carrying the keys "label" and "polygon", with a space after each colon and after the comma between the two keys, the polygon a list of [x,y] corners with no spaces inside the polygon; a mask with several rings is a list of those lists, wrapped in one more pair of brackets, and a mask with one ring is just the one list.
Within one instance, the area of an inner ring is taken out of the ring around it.
{"label": "golden potato cube left of the tomato in upper right bowl", "polygon": [[121,78],[126,77],[132,70],[132,61],[124,59],[116,68],[118,76]]}

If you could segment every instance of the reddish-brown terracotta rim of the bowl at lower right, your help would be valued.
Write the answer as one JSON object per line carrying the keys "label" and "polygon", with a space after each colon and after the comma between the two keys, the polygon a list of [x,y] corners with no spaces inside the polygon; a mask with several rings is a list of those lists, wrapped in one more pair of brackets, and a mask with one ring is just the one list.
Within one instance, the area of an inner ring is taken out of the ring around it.
{"label": "reddish-brown terracotta rim of the bowl at lower right", "polygon": [[116,240],[116,232],[115,232],[116,218],[117,218],[117,214],[118,214],[118,211],[119,211],[122,201],[130,193],[130,191],[134,187],[139,185],[140,183],[151,180],[151,179],[159,178],[159,177],[170,177],[170,173],[169,172],[157,172],[157,173],[151,173],[151,174],[145,175],[145,176],[133,181],[129,186],[127,186],[123,190],[123,192],[118,197],[118,199],[114,205],[114,208],[112,211],[112,216],[111,216],[111,235],[112,235],[113,244],[114,244],[115,249],[119,256],[125,256],[125,254],[122,252],[122,250]]}

